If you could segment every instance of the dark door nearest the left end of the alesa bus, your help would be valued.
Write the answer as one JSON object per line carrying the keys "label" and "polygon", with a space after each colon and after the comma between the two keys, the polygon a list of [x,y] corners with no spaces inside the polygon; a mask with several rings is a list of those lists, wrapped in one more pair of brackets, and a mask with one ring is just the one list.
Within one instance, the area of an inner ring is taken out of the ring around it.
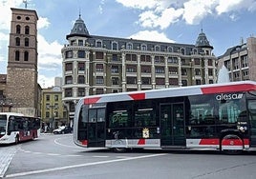
{"label": "dark door nearest the left end of the alesa bus", "polygon": [[105,147],[105,109],[89,109],[88,147]]}

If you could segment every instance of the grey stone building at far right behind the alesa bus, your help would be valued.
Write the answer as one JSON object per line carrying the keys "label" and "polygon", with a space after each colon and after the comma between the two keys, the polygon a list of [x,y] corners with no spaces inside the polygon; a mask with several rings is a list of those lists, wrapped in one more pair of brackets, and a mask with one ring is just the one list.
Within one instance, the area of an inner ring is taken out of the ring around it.
{"label": "grey stone building at far right behind the alesa bus", "polygon": [[256,81],[256,38],[251,36],[241,45],[227,49],[218,57],[218,69],[228,70],[230,81]]}

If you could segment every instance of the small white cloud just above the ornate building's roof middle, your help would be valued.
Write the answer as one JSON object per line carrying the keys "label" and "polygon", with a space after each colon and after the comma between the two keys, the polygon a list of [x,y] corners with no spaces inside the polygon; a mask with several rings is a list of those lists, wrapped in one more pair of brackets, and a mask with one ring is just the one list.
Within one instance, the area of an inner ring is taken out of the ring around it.
{"label": "small white cloud just above the ornate building's roof middle", "polygon": [[142,30],[138,33],[131,35],[128,38],[138,39],[138,40],[149,40],[149,41],[158,41],[158,42],[169,42],[173,43],[175,41],[169,39],[163,32],[157,30]]}

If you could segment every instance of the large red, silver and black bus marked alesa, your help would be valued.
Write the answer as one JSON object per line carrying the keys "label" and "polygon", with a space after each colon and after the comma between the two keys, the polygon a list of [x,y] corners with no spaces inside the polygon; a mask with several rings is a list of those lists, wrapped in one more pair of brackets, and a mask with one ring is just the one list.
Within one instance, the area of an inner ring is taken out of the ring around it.
{"label": "large red, silver and black bus marked alesa", "polygon": [[85,96],[75,144],[134,148],[256,149],[256,82],[230,82]]}

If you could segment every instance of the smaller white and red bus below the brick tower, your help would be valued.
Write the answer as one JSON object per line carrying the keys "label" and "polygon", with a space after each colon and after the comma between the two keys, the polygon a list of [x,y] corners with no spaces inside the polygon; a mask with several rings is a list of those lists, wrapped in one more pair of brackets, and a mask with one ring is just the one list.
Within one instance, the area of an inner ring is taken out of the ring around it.
{"label": "smaller white and red bus below the brick tower", "polygon": [[33,140],[40,135],[40,119],[21,113],[0,112],[0,144]]}

